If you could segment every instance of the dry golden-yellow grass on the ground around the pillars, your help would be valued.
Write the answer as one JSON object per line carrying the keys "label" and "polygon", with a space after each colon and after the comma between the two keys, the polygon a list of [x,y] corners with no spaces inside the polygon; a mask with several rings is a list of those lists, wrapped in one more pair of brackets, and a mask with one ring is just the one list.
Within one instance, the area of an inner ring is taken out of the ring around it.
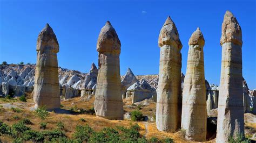
{"label": "dry golden-yellow grass on the ground around the pillars", "polygon": [[[14,99],[15,100],[15,99]],[[29,111],[29,108],[33,106],[32,98],[27,99],[28,102],[19,102],[18,99],[13,102],[13,105],[18,106],[19,108],[23,109],[22,112],[17,113],[14,111],[11,111],[10,109],[4,109],[0,107],[0,120],[2,120],[4,123],[8,125],[12,125],[18,122],[18,120],[14,119],[14,116],[19,116],[21,119],[28,118],[32,121],[33,125],[30,126],[33,130],[42,131],[40,129],[39,123],[42,122],[42,120],[35,116],[35,113],[33,111]],[[0,100],[0,103],[7,103]],[[63,109],[70,110],[71,107],[77,106],[77,108],[82,109],[91,109],[93,108],[94,103],[94,97],[92,97],[89,101],[84,101],[80,97],[69,99],[68,101],[62,101],[61,104],[63,105]],[[128,106],[132,106],[132,108],[127,108]],[[133,106],[131,104],[131,101],[126,99],[124,101],[124,110],[131,112],[133,110],[137,109],[137,106]],[[150,105],[148,106],[142,106],[143,115],[147,116],[153,116],[156,112],[156,103],[150,102]],[[85,121],[81,121],[80,119],[83,118]],[[168,133],[168,132],[160,132],[156,128],[155,123],[146,123],[144,121],[137,122],[137,121],[130,121],[130,120],[108,120],[100,117],[96,117],[95,115],[86,115],[86,114],[77,114],[77,115],[68,115],[68,114],[59,114],[55,112],[50,112],[50,116],[44,120],[43,122],[48,123],[46,126],[46,130],[53,130],[57,128],[56,124],[62,121],[62,123],[65,126],[65,134],[71,138],[72,133],[75,131],[75,128],[77,125],[86,125],[88,124],[90,127],[93,128],[95,131],[101,130],[103,127],[116,127],[116,126],[125,126],[129,127],[132,124],[138,123],[140,126],[140,134],[146,135],[147,139],[150,139],[151,137],[156,137],[158,139],[164,139],[164,138],[172,138],[175,142],[188,142],[185,141],[182,138],[181,132],[176,133]],[[147,124],[147,128],[145,125]],[[246,126],[250,126],[252,128],[256,128],[256,123],[246,123]],[[1,139],[7,140],[10,138],[6,136],[1,136]],[[214,142],[214,140],[210,140],[208,142]]]}

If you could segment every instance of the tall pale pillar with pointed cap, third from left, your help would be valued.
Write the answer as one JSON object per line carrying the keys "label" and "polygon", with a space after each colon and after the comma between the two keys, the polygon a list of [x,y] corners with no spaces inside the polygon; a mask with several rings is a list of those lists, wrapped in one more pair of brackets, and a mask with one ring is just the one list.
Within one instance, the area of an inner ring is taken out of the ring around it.
{"label": "tall pale pillar with pointed cap, third from left", "polygon": [[161,28],[156,125],[159,131],[174,132],[181,122],[181,47],[179,34],[168,17]]}

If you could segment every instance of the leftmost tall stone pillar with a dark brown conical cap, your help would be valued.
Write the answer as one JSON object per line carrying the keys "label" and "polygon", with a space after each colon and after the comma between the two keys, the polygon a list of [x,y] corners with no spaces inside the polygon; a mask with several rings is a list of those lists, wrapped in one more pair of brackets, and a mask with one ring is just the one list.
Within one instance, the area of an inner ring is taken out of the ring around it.
{"label": "leftmost tall stone pillar with a dark brown conical cap", "polygon": [[57,53],[59,44],[49,24],[37,38],[37,65],[33,100],[35,107],[60,108]]}

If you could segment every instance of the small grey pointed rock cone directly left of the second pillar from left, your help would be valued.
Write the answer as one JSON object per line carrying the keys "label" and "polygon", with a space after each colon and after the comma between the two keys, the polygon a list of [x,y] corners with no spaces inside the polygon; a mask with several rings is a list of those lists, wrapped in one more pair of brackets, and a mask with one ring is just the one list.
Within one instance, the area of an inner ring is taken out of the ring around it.
{"label": "small grey pointed rock cone directly left of the second pillar from left", "polygon": [[[92,63],[90,72],[86,75],[84,82],[81,86],[81,96],[88,96],[95,93],[94,86],[97,83],[98,69],[94,63]],[[94,91],[94,92],[93,92]]]}

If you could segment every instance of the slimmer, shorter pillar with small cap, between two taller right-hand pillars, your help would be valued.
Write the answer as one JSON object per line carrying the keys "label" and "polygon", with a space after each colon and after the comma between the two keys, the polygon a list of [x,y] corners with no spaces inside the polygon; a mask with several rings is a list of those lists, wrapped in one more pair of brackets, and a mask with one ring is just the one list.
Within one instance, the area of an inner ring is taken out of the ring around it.
{"label": "slimmer, shorter pillar with small cap, between two taller right-hand pillars", "polygon": [[203,34],[197,28],[188,45],[187,70],[183,87],[181,128],[186,131],[186,139],[206,140],[206,88],[204,71]]}

